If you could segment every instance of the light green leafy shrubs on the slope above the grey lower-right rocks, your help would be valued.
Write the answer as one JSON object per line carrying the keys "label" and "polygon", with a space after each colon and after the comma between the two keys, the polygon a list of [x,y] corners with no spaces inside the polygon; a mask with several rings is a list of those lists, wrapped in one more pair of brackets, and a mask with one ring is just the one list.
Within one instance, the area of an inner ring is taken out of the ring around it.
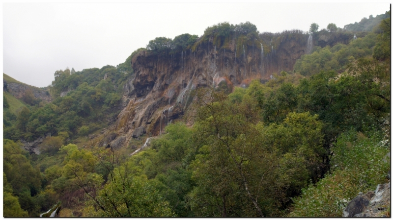
{"label": "light green leafy shrubs on the slope above the grey lower-right rocks", "polygon": [[341,217],[347,203],[359,192],[374,190],[377,184],[387,181],[387,142],[375,131],[368,135],[354,130],[341,134],[331,149],[334,169],[294,199],[289,217]]}

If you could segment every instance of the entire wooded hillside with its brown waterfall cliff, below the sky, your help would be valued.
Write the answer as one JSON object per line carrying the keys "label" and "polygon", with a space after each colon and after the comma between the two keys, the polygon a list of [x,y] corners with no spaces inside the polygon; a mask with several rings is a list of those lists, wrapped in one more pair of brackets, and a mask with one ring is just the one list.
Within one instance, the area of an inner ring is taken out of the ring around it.
{"label": "entire wooded hillside with its brown waterfall cliff, below the sky", "polygon": [[51,96],[3,74],[4,216],[341,217],[390,181],[378,25],[215,24],[58,70]]}

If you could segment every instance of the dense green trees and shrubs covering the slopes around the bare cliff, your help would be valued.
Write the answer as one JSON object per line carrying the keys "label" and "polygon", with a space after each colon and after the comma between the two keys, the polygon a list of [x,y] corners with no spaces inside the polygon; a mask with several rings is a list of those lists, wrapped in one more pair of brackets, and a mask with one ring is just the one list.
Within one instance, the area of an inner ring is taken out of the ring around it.
{"label": "dense green trees and shrubs covering the slopes around the bare cliff", "polygon": [[[221,23],[147,49],[178,53],[209,38],[225,48],[232,36],[241,45],[268,35]],[[62,212],[84,217],[340,217],[390,169],[390,18],[349,45],[312,51],[264,84],[195,91],[184,117],[193,126],[168,124],[132,157],[71,140],[118,114],[136,52],[117,67],[56,71],[50,104],[23,103],[15,115],[5,95],[4,216],[37,217],[61,201]],[[16,142],[48,132],[38,156]]]}

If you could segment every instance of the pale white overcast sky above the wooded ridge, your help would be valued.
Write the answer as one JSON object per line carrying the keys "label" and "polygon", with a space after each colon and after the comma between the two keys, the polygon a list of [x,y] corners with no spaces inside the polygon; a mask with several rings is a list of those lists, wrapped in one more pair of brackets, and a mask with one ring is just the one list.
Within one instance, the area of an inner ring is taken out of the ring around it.
{"label": "pale white overcast sky above the wooded ridge", "polygon": [[156,37],[249,21],[260,32],[360,22],[389,3],[3,3],[3,73],[37,87],[56,70],[116,66]]}

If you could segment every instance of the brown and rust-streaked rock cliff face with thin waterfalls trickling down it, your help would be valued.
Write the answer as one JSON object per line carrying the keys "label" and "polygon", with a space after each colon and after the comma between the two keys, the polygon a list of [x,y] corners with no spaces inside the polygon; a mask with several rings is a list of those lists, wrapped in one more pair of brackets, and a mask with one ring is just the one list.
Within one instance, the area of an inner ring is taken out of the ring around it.
{"label": "brown and rust-streaked rock cliff face with thin waterfalls trickling down it", "polygon": [[147,134],[159,135],[168,122],[184,113],[192,90],[225,84],[231,92],[234,86],[247,87],[252,79],[267,81],[273,73],[292,71],[306,52],[309,35],[265,36],[269,37],[263,41],[263,50],[249,45],[238,51],[234,43],[218,49],[209,39],[195,51],[171,55],[141,51],[132,60],[135,78],[124,88],[131,100],[117,118],[116,132],[124,132],[129,139],[142,126]]}

